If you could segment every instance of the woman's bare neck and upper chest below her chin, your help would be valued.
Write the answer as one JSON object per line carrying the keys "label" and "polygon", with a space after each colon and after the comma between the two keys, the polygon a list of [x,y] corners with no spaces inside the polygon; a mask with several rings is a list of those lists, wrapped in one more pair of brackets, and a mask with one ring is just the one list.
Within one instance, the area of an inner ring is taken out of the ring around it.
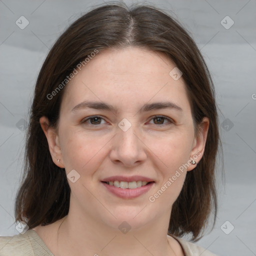
{"label": "woman's bare neck and upper chest below her chin", "polygon": [[58,227],[57,256],[175,255],[167,239],[170,212],[139,228],[132,228],[132,223],[123,221],[117,221],[120,224],[113,228],[71,209]]}

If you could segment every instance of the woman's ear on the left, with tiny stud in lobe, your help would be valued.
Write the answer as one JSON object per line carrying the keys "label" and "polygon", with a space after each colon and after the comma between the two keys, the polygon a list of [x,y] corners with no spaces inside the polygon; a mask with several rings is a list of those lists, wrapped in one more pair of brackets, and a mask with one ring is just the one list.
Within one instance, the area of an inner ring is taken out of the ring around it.
{"label": "woman's ear on the left, with tiny stud in lobe", "polygon": [[[51,158],[53,162],[60,168],[64,168],[62,161],[61,148],[59,146],[59,139],[55,129],[49,125],[49,120],[46,116],[42,116],[39,119],[41,128],[47,138]],[[59,159],[59,161],[58,161]]]}

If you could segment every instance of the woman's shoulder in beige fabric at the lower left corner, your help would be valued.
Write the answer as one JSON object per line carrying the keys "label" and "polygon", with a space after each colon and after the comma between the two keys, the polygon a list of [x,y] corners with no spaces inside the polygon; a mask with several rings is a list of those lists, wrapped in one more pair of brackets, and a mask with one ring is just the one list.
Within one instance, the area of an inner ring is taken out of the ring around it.
{"label": "woman's shoulder in beige fabric at the lower left corner", "polygon": [[41,243],[40,238],[32,229],[23,234],[13,236],[0,236],[0,255],[1,256],[51,256],[45,244]]}

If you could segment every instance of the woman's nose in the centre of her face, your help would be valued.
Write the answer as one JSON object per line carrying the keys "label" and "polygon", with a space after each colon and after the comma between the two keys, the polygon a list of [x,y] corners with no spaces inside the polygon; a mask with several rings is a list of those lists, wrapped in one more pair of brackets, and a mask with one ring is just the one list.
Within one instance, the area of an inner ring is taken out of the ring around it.
{"label": "woman's nose in the centre of her face", "polygon": [[124,130],[116,128],[109,157],[112,162],[126,167],[141,164],[146,159],[146,145],[143,143],[142,135],[136,125]]}

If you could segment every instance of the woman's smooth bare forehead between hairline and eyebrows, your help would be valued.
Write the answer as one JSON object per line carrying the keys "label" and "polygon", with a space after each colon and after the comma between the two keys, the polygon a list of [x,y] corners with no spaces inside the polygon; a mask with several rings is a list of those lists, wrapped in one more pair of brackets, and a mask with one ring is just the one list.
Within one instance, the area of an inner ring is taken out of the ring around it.
{"label": "woman's smooth bare forehead between hairline and eyebrows", "polygon": [[78,70],[66,86],[62,102],[68,108],[86,99],[133,107],[172,99],[189,108],[182,76],[174,80],[169,74],[174,67],[163,53],[136,47],[107,49]]}

